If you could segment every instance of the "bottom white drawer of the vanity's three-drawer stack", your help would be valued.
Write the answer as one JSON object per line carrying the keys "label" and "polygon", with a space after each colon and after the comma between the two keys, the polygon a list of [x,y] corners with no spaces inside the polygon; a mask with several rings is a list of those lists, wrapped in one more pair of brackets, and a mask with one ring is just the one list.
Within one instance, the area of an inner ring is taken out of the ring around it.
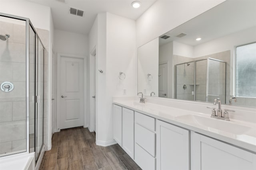
{"label": "bottom white drawer of the vanity's three-drawer stack", "polygon": [[135,143],[135,162],[143,170],[156,169],[156,158],[142,149],[142,147],[140,147],[137,143]]}

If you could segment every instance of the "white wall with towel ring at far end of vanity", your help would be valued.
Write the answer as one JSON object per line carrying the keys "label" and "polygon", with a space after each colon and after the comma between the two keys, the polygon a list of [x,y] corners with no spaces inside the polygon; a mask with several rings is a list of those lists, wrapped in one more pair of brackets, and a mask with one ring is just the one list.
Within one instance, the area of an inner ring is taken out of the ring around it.
{"label": "white wall with towel ring at far end of vanity", "polygon": [[[136,61],[135,21],[110,13],[98,14],[90,30],[90,51],[96,47],[96,143],[109,145],[113,141],[112,96],[133,96]],[[90,69],[91,71],[91,69]],[[125,80],[118,78],[126,74]]]}

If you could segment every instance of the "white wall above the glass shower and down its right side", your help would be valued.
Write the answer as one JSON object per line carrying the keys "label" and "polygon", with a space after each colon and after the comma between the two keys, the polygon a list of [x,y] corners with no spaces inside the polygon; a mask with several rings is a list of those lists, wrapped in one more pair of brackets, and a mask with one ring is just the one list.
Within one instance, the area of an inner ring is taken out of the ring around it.
{"label": "white wall above the glass shower and down its right side", "polygon": [[[48,43],[44,43],[48,54],[46,58],[46,70],[45,70],[45,103],[46,106],[44,110],[44,144],[45,149],[51,149],[51,75],[52,75],[52,44],[54,37],[54,25],[52,21],[51,9],[48,6],[43,6],[40,4],[35,4],[33,2],[28,2],[26,0],[0,0],[0,12],[5,14],[11,14],[15,16],[20,16],[24,18],[29,18],[35,28],[45,29],[49,31],[48,37],[40,37],[42,41],[47,40]],[[44,31],[43,31],[44,32]],[[47,75],[46,75],[47,74]]]}

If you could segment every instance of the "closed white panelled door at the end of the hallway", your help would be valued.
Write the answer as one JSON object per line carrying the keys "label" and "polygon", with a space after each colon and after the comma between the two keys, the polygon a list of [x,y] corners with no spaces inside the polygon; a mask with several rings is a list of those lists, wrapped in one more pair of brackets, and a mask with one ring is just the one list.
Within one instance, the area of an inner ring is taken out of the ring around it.
{"label": "closed white panelled door at the end of the hallway", "polygon": [[84,61],[60,57],[60,129],[83,126]]}

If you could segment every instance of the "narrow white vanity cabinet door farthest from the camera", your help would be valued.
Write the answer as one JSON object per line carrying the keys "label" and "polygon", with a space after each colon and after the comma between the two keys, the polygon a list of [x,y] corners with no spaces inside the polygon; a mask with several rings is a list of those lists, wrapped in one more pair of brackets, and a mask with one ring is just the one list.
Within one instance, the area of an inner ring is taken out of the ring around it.
{"label": "narrow white vanity cabinet door farthest from the camera", "polygon": [[114,140],[122,147],[122,107],[114,104]]}

